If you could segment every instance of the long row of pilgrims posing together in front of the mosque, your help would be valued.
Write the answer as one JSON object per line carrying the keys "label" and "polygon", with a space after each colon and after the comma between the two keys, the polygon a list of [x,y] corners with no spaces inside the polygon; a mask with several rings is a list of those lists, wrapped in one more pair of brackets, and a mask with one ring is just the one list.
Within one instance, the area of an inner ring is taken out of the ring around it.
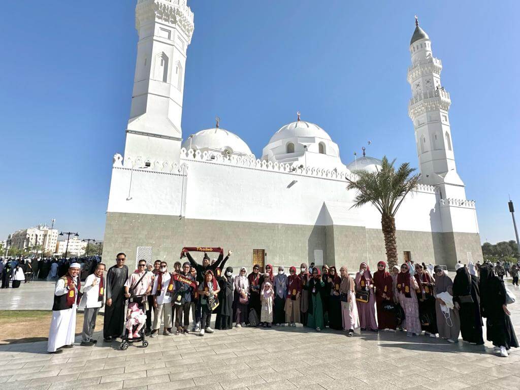
{"label": "long row of pilgrims posing together in front of the mosque", "polygon": [[[254,265],[249,275],[242,267],[233,276],[232,267],[224,268],[231,253],[225,258],[220,253],[213,262],[204,253],[202,264],[198,264],[188,250],[183,250],[188,261],[176,262],[173,272],[164,261],[155,262],[147,271],[146,261],[141,260],[131,275],[124,265],[125,254],[119,253],[106,281],[102,272],[105,266],[98,265],[85,281],[84,293],[91,297],[90,301],[82,299],[85,323],[81,345],[95,343],[95,317],[106,293],[106,342],[123,334],[125,300],[132,295],[147,295],[146,329],[152,337],[159,334],[161,325],[163,335],[189,333],[191,311],[192,331],[199,335],[213,333],[211,314],[216,313],[215,328],[219,330],[230,329],[233,323],[237,328],[271,328],[272,324],[295,327],[301,323],[318,332],[324,328],[346,331],[348,336],[355,330],[406,330],[408,336],[424,332],[431,337],[438,334],[450,343],[458,342],[461,333],[463,341],[482,345],[485,317],[487,340],[493,343],[495,352],[508,356],[508,349],[518,347],[504,282],[489,264],[480,267],[479,278],[466,266],[460,267],[453,281],[439,266],[434,267],[433,275],[424,264],[415,264],[411,273],[410,263],[394,266],[389,272],[383,261],[373,274],[367,263],[361,263],[354,278],[346,266],[338,273],[334,266],[324,265],[320,271],[318,267],[309,269],[305,263],[299,271],[290,267],[289,275],[282,266],[275,275],[272,265],[267,264],[265,271]],[[80,282],[73,266],[56,284],[50,353],[70,347],[73,341],[75,309],[80,302]]]}

